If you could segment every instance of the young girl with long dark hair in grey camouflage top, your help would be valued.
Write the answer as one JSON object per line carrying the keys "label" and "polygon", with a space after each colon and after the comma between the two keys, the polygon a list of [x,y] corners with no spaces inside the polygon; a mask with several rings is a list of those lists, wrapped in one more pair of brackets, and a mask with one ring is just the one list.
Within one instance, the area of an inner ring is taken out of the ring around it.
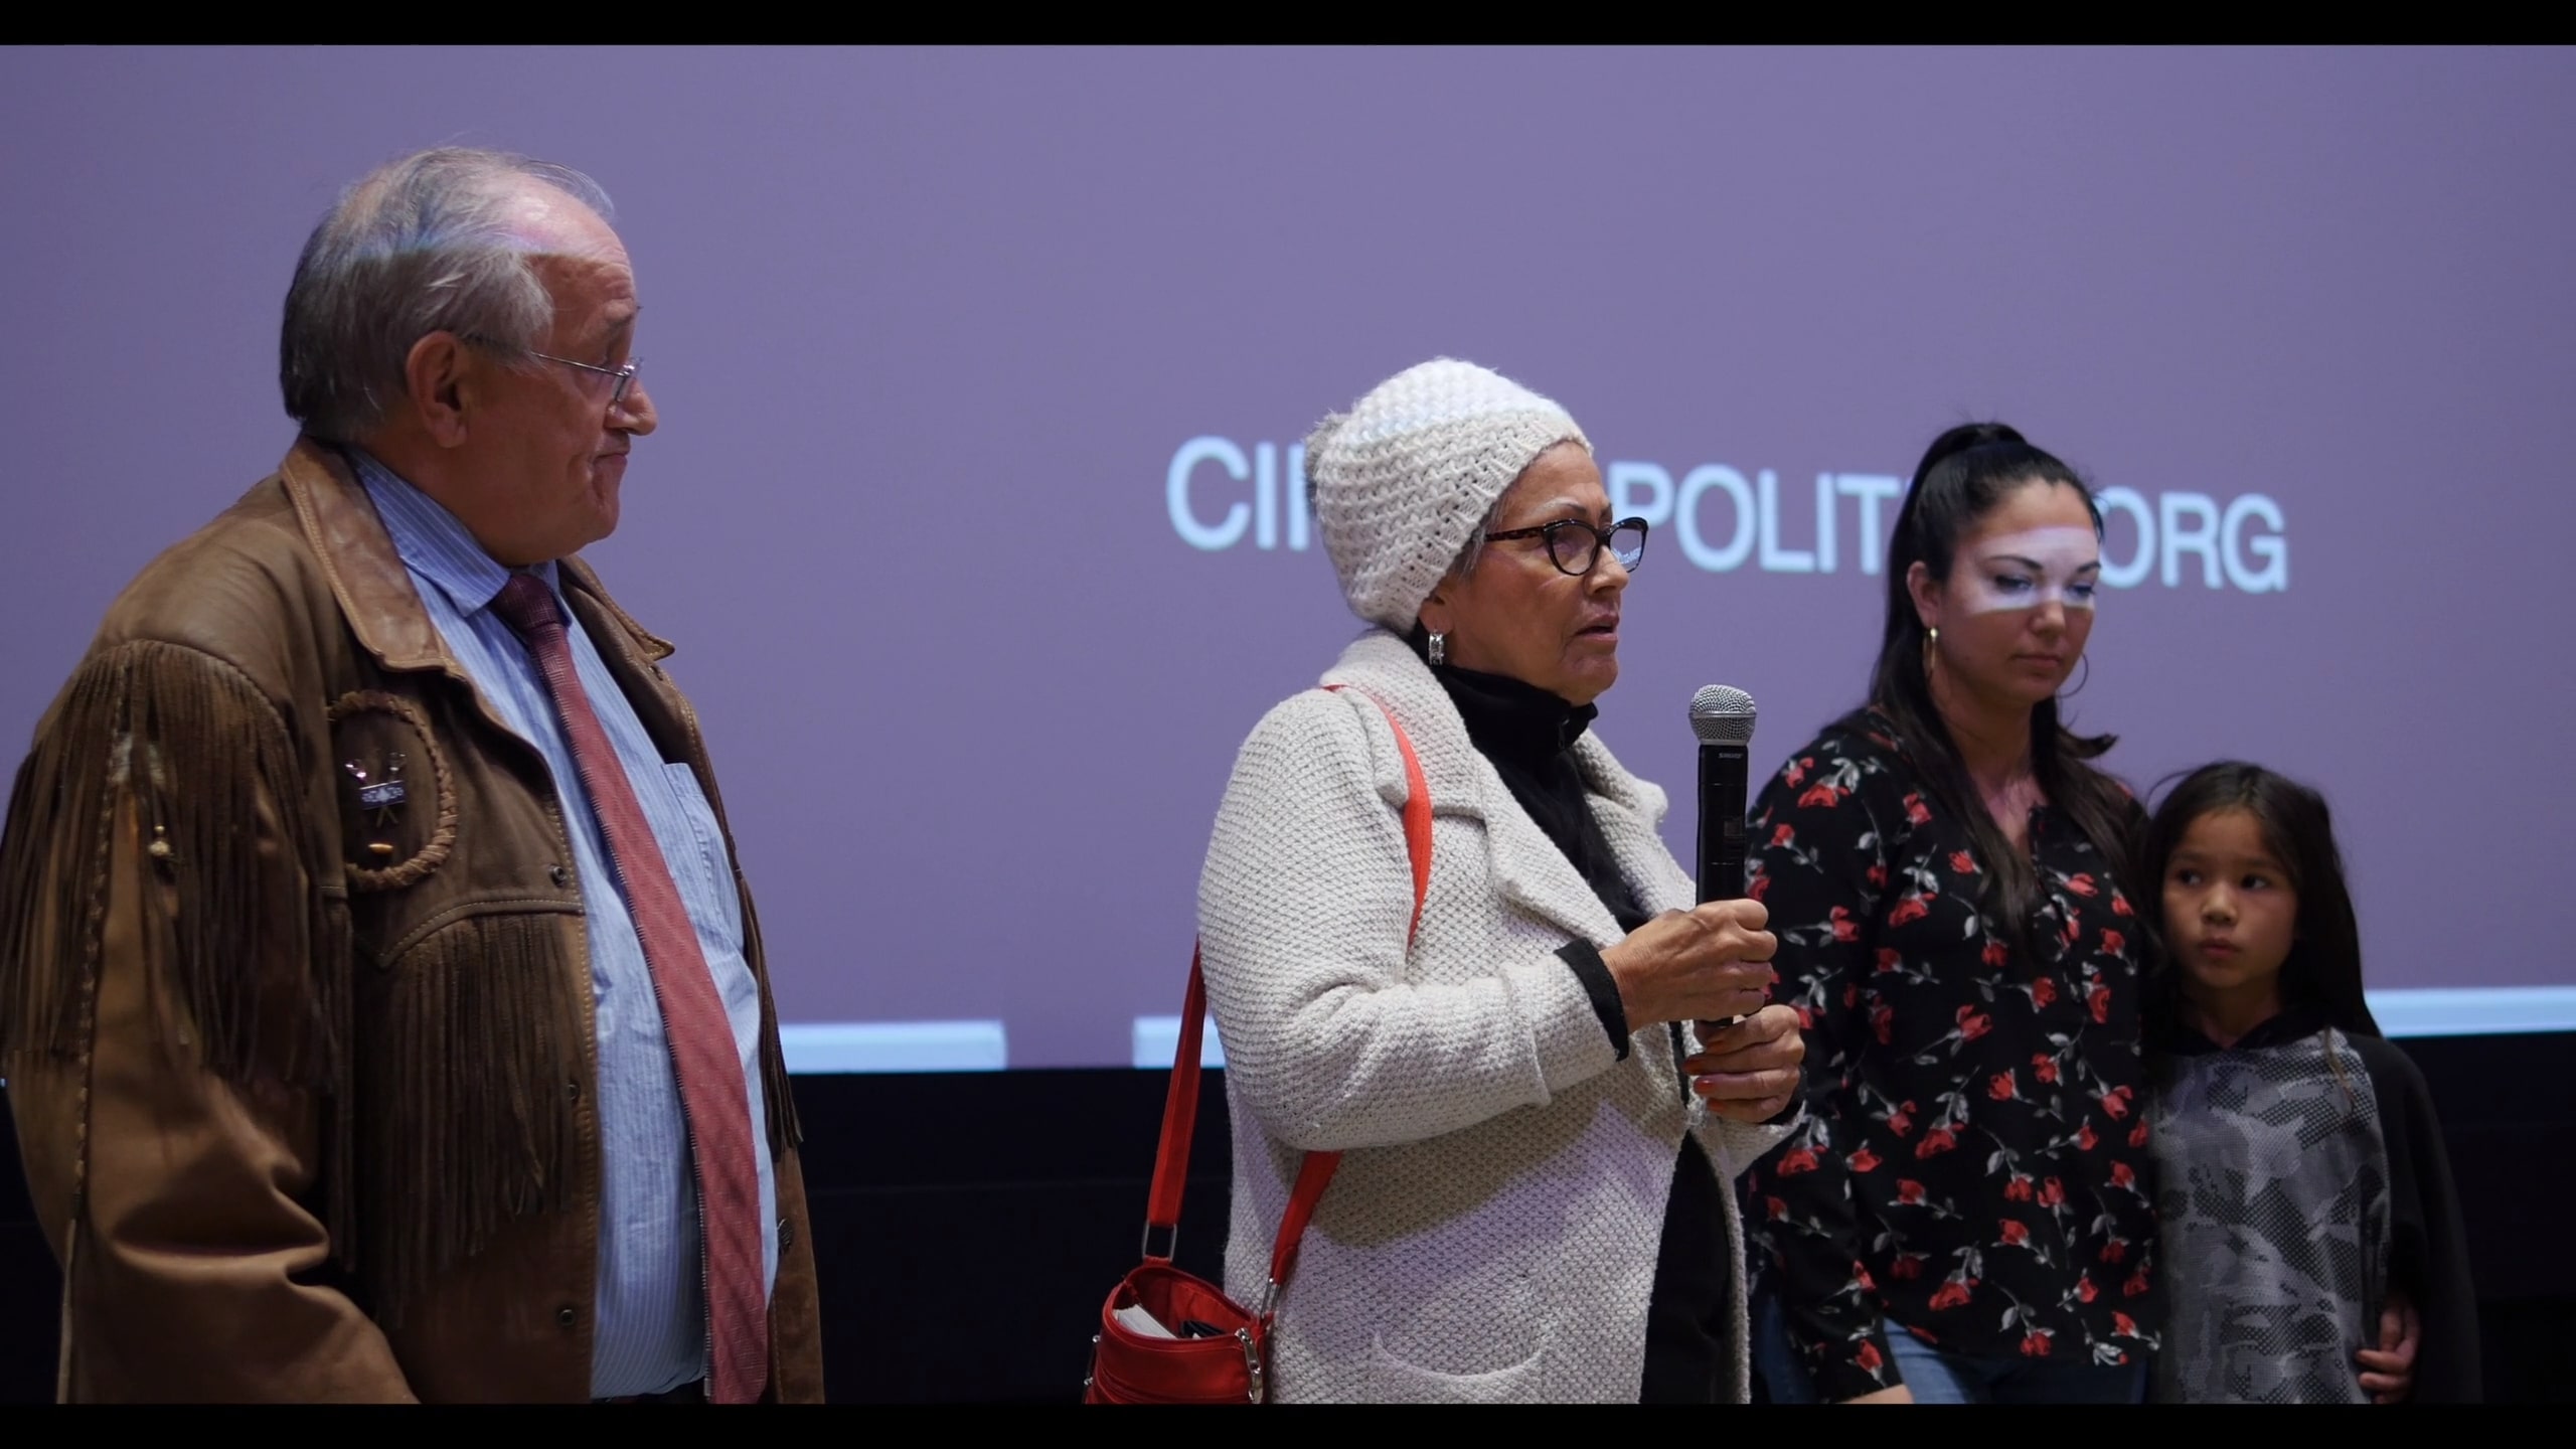
{"label": "young girl with long dark hair in grey camouflage top", "polygon": [[[2192,771],[2138,856],[2164,890],[2148,982],[2166,1403],[2360,1403],[2419,1305],[2414,1400],[2478,1397],[2468,1248],[2424,1078],[2362,1003],[2326,802],[2262,766]],[[2388,1395],[2380,1395],[2383,1400]]]}

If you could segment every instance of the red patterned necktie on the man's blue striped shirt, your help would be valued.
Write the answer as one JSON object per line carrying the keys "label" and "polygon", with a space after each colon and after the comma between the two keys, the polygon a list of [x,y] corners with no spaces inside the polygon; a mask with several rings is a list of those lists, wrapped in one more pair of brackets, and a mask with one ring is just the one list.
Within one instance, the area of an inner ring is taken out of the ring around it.
{"label": "red patterned necktie on the man's blue striped shirt", "polygon": [[608,743],[608,730],[590,712],[582,678],[572,670],[572,642],[564,637],[564,611],[546,580],[510,575],[492,608],[518,629],[554,714],[572,740],[590,810],[608,838],[608,859],[626,887],[644,962],[652,967],[654,1000],[662,1003],[662,1034],[670,1039],[672,1070],[680,1080],[680,1111],[698,1173],[698,1225],[706,1243],[706,1312],[714,1372],[708,1397],[752,1403],[770,1377],[770,1315],[760,1266],[760,1165],[752,1152],[752,1101],[734,1055],[734,1026],[724,1016],[716,977],[698,949],[698,928],[688,920],[680,887],[670,879],[662,846],[644,820],[634,781]]}

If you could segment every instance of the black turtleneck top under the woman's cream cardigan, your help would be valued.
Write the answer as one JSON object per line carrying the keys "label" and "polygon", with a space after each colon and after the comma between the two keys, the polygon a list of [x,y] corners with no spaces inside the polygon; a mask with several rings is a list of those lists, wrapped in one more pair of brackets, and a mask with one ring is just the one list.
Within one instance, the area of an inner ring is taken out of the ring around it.
{"label": "black turtleneck top under the woman's cream cardigan", "polygon": [[[1422,632],[1414,632],[1414,652],[1422,652]],[[1584,884],[1600,897],[1620,931],[1636,931],[1649,920],[1636,890],[1610,853],[1610,838],[1592,817],[1592,799],[1584,776],[1574,763],[1574,740],[1592,724],[1589,704],[1566,704],[1556,694],[1517,678],[1437,665],[1432,676],[1466,719],[1466,737],[1502,776],[1504,789],[1520,802],[1530,820],[1546,830],[1548,841],[1564,851],[1566,861],[1582,871]],[[1628,1057],[1628,1013],[1618,1000],[1618,982],[1602,964],[1592,941],[1569,941],[1558,959],[1574,969],[1592,998],[1592,1011],[1610,1034],[1620,1060]],[[1680,1044],[1680,1036],[1674,1036]],[[1734,1310],[1728,1305],[1731,1274],[1726,1261],[1734,1243],[1726,1235],[1726,1212],[1718,1201],[1718,1178],[1708,1165],[1695,1134],[1682,1134],[1682,1160],[1672,1171],[1672,1196],[1664,1199],[1664,1238],[1654,1258],[1654,1297],[1646,1307],[1646,1374],[1638,1385],[1643,1403],[1716,1403],[1726,1366],[1726,1336]]]}

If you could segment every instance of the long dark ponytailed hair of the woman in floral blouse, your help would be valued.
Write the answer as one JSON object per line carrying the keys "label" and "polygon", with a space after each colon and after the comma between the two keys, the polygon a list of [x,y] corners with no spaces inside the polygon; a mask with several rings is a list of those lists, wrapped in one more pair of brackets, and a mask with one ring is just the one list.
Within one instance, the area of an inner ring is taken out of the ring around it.
{"label": "long dark ponytailed hair of the woman in floral blouse", "polygon": [[[2102,508],[2092,487],[2056,456],[2030,446],[2004,423],[1963,423],[1950,428],[1924,449],[1914,464],[1914,485],[1904,508],[1896,511],[1896,534],[1888,541],[1888,619],[1878,642],[1878,663],[1870,668],[1870,712],[1886,717],[1896,743],[1914,758],[1932,786],[1935,804],[1968,822],[1976,859],[1984,861],[1978,884],[1978,910],[2002,928],[2027,969],[2038,969],[2040,928],[2035,923],[2040,902],[2040,877],[2027,851],[2014,851],[1994,815],[1968,784],[1968,766],[1932,704],[1932,681],[1924,673],[1924,624],[1914,614],[1914,593],[1906,575],[1917,562],[1935,580],[1950,578],[1958,559],[1958,541],[1994,511],[2009,492],[2025,485],[2071,487],[2092,513],[2094,536],[2102,534]],[[1878,730],[1862,717],[1844,719],[1844,727]],[[2120,781],[2097,771],[2089,761],[2110,750],[2115,735],[2076,735],[2058,717],[2058,701],[2043,699],[2030,712],[2030,771],[2048,802],[2074,820],[2076,830],[2102,856],[2115,882],[2130,882],[2130,820],[2133,804]],[[2136,882],[2130,892],[2136,895]]]}

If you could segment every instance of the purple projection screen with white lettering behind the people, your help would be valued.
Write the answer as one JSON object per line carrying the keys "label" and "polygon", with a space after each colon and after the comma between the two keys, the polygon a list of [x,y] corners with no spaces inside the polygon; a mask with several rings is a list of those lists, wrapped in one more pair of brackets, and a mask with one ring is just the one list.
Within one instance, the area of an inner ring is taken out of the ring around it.
{"label": "purple projection screen with white lettering behind the people", "polygon": [[[1252,722],[1358,621],[1296,443],[1463,356],[1654,518],[1602,737],[1690,851],[1860,699],[1893,498],[2004,418],[2102,490],[2074,699],[2141,792],[2336,807],[2406,1031],[2576,1026],[2576,52],[0,52],[0,748],[291,441],[278,302],[438,142],[577,165],[672,637],[801,1070],[1170,1052]],[[1162,1018],[1162,1021],[1157,1021]],[[1159,1031],[1159,1036],[1157,1036]],[[1167,1057],[1164,1057],[1167,1060]]]}

